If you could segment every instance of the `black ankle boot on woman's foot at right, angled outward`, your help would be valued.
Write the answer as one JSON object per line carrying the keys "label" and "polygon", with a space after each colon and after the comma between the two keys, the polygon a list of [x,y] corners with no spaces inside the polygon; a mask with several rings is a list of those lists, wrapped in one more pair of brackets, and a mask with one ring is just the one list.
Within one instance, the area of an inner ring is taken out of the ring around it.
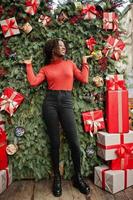
{"label": "black ankle boot on woman's foot at right, angled outward", "polygon": [[83,194],[90,194],[90,187],[85,183],[81,174],[77,174],[73,177],[73,186]]}

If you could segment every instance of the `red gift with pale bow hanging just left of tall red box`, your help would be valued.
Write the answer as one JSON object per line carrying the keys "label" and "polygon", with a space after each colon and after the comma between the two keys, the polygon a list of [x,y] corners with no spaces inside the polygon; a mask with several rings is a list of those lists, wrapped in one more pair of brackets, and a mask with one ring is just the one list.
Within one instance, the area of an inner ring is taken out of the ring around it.
{"label": "red gift with pale bow hanging just left of tall red box", "polygon": [[83,112],[82,118],[85,132],[89,132],[91,136],[92,132],[105,128],[102,110]]}

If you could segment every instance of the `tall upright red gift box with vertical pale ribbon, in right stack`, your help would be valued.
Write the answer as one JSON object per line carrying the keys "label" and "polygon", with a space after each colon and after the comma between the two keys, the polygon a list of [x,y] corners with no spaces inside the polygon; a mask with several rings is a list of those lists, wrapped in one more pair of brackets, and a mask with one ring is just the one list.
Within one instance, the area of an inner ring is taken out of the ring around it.
{"label": "tall upright red gift box with vertical pale ribbon, in right stack", "polygon": [[109,133],[129,132],[128,91],[106,91],[106,124]]}

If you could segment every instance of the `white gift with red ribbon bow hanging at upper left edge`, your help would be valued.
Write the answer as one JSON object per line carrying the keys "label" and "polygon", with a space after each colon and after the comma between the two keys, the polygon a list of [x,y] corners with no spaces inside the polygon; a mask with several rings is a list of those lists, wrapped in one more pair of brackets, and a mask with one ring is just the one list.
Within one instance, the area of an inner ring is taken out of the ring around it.
{"label": "white gift with red ribbon bow hanging at upper left edge", "polygon": [[15,17],[0,21],[2,32],[5,37],[20,33]]}

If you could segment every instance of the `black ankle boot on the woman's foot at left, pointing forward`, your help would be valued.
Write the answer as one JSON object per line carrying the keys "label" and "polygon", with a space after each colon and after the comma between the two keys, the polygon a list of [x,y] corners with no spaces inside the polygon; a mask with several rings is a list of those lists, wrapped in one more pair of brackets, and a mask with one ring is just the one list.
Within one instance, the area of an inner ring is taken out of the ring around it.
{"label": "black ankle boot on the woman's foot at left, pointing forward", "polygon": [[59,197],[62,195],[62,188],[61,188],[61,176],[60,174],[54,175],[53,181],[53,195],[55,197]]}

